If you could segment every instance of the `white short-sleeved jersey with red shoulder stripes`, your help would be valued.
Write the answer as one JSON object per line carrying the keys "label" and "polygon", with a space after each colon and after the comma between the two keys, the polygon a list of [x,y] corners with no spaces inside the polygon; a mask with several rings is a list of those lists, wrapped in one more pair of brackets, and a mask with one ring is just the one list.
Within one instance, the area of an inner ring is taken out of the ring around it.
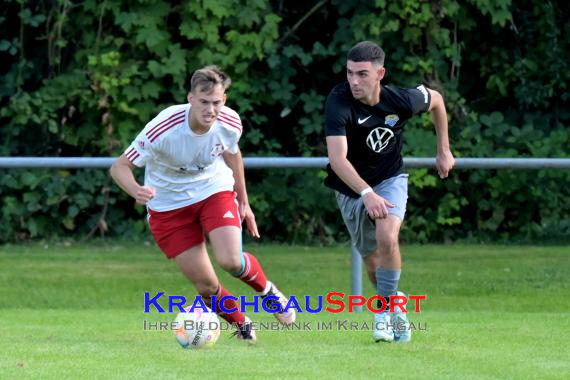
{"label": "white short-sleeved jersey with red shoulder stripes", "polygon": [[168,107],[125,150],[130,162],[145,167],[145,186],[156,190],[147,204],[151,210],[174,210],[234,188],[232,170],[222,153],[238,152],[239,115],[224,106],[210,130],[196,134],[188,124],[190,108],[190,104]]}

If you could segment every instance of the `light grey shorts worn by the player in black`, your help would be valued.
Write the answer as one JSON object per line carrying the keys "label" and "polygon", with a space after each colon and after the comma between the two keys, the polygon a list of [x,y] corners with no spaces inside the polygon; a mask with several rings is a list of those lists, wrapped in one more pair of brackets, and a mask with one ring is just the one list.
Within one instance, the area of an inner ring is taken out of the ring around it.
{"label": "light grey shorts worn by the player in black", "polygon": [[[376,194],[396,205],[396,207],[388,208],[388,213],[396,215],[402,221],[408,202],[408,176],[408,174],[400,174],[388,178],[374,186],[373,189]],[[335,193],[342,219],[350,233],[352,245],[362,257],[368,256],[378,246],[376,224],[368,217],[362,198],[352,198],[338,191]]]}

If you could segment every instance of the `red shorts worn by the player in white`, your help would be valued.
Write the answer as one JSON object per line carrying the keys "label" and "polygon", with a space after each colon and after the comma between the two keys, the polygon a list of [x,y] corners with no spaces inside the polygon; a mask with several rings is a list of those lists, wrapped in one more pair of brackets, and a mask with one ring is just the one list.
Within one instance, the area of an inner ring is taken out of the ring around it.
{"label": "red shorts worn by the player in white", "polygon": [[169,259],[204,241],[204,232],[222,226],[241,228],[236,194],[222,191],[171,211],[149,210],[148,222],[158,247]]}

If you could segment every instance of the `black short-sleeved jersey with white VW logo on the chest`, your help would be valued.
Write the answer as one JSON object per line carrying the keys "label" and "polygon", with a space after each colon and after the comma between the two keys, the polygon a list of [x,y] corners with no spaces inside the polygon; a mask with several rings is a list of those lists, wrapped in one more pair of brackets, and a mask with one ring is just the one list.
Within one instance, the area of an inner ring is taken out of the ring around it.
{"label": "black short-sleeved jersey with white VW logo on the chest", "polygon": [[[382,86],[380,102],[374,106],[354,99],[348,82],[335,86],[325,107],[327,136],[346,136],[347,159],[370,186],[403,170],[402,132],[413,115],[428,110],[430,94],[423,85],[415,88]],[[327,166],[325,185],[351,197],[358,197]]]}

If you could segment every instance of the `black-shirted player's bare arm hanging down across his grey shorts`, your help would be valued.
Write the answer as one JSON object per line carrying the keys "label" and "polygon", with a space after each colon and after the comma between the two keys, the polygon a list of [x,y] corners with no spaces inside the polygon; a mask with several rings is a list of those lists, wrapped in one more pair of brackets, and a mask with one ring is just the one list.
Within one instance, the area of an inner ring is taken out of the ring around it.
{"label": "black-shirted player's bare arm hanging down across his grey shorts", "polygon": [[[358,175],[354,166],[346,158],[348,152],[346,136],[327,136],[327,150],[332,170],[344,183],[358,194],[362,194],[363,190],[370,188],[370,185]],[[388,208],[394,207],[392,203],[374,193],[374,191],[366,192],[362,196],[362,200],[368,215],[373,219],[386,218],[388,216]]]}

